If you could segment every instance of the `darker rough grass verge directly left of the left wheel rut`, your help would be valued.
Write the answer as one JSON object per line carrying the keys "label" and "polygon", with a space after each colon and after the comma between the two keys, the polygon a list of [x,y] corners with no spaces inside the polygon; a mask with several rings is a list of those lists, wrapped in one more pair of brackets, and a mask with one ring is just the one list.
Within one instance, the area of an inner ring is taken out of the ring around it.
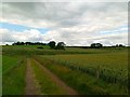
{"label": "darker rough grass verge directly left of the left wheel rut", "polygon": [[2,95],[24,95],[26,61],[10,69],[2,77]]}

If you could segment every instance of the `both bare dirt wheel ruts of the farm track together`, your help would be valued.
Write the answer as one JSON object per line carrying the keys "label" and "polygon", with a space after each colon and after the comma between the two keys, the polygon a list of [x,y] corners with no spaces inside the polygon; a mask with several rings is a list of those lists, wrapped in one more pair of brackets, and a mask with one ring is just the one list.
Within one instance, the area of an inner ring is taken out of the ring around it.
{"label": "both bare dirt wheel ruts of the farm track together", "polygon": [[[25,94],[26,95],[40,95],[40,86],[35,78],[35,73],[32,72],[31,68],[31,58],[27,58],[27,67],[26,67],[26,88]],[[69,87],[67,84],[65,84],[60,78],[57,78],[54,73],[52,73],[50,70],[48,70],[43,65],[41,65],[39,61],[34,59],[36,65],[38,65],[40,68],[42,68],[43,72],[50,77],[50,79],[57,84],[61,88],[63,88],[67,94],[63,95],[78,95],[78,93]],[[56,94],[54,94],[56,95]]]}

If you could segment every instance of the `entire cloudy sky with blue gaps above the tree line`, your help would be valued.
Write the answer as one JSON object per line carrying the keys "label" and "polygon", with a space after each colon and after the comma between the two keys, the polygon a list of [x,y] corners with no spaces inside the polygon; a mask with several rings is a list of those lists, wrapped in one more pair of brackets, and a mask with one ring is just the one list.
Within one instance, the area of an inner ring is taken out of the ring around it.
{"label": "entire cloudy sky with blue gaps above the tree line", "polygon": [[128,45],[127,2],[4,2],[0,9],[0,44]]}

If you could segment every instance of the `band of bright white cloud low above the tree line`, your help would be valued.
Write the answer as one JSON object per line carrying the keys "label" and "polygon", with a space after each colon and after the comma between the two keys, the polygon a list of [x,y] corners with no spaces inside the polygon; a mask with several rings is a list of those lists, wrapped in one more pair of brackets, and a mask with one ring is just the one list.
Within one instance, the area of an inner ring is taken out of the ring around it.
{"label": "band of bright white cloud low above the tree line", "polygon": [[[67,45],[90,45],[93,42],[101,42],[105,45],[114,45],[115,43],[127,44],[127,32],[100,34],[84,32],[75,32],[70,29],[56,29],[41,33],[37,29],[25,30],[23,32],[11,32],[8,29],[0,30],[3,38],[2,42],[16,42],[16,41],[31,41],[31,42],[49,42],[49,41],[64,41]],[[78,37],[77,37],[78,36]]]}

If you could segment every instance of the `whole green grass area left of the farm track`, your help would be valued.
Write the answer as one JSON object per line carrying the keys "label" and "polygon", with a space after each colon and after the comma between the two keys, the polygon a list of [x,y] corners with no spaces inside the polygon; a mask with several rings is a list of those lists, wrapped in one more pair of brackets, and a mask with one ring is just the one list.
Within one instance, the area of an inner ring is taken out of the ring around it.
{"label": "whole green grass area left of the farm track", "polygon": [[2,63],[2,94],[23,95],[25,93],[25,59],[21,56],[3,55]]}

